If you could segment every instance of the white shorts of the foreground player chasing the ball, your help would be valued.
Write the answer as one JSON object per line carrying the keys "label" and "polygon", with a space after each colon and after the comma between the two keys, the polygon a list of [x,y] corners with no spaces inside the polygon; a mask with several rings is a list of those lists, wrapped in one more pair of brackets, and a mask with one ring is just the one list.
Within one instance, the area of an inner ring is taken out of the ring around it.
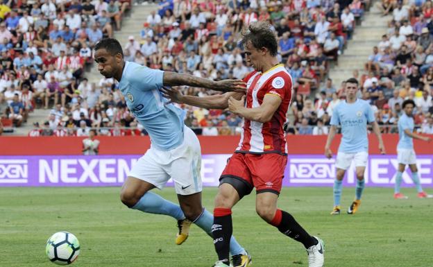
{"label": "white shorts of the foreground player chasing the ball", "polygon": [[135,163],[129,176],[151,183],[158,189],[172,178],[179,195],[201,192],[201,148],[196,134],[185,126],[183,143],[177,148],[149,148]]}

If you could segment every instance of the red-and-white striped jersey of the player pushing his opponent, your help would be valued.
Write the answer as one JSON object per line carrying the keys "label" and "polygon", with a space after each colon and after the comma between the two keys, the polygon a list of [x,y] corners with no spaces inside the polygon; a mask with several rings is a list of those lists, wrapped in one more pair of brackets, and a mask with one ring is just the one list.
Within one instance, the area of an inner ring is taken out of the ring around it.
{"label": "red-and-white striped jersey of the player pushing his opponent", "polygon": [[241,141],[236,151],[241,153],[287,153],[283,124],[291,101],[292,82],[283,64],[278,64],[261,72],[253,71],[244,78],[246,83],[246,107],[262,105],[266,94],[282,99],[271,121],[260,123],[244,119],[242,121]]}

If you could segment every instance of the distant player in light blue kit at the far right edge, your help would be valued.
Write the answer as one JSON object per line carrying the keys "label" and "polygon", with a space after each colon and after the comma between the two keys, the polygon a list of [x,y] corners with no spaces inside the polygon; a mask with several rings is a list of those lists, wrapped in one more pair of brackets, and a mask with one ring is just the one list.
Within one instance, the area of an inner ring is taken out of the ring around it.
{"label": "distant player in light blue kit at the far right edge", "polygon": [[407,196],[400,193],[400,184],[402,181],[403,172],[406,169],[406,165],[409,165],[412,173],[412,181],[416,185],[418,191],[418,198],[433,198],[432,195],[428,195],[423,191],[421,182],[418,177],[418,168],[416,168],[416,154],[414,150],[414,138],[423,141],[430,142],[430,137],[423,137],[414,133],[415,123],[412,117],[414,112],[415,102],[411,99],[405,100],[402,103],[402,108],[405,111],[402,116],[398,119],[398,136],[400,140],[397,145],[397,160],[398,160],[398,172],[396,175],[396,186],[394,189],[394,198],[406,199]]}

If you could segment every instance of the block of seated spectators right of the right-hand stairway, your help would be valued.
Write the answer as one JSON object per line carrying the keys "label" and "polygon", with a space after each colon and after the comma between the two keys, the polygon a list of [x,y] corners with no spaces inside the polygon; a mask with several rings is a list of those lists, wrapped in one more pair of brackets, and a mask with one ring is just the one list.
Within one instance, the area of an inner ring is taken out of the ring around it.
{"label": "block of seated spectators right of the right-hand stairway", "polygon": [[[402,101],[416,103],[418,131],[433,133],[433,7],[432,1],[377,3],[384,16],[392,17],[387,33],[374,46],[361,77],[362,98],[370,101],[382,125],[395,125]],[[384,132],[396,132],[384,127]]]}

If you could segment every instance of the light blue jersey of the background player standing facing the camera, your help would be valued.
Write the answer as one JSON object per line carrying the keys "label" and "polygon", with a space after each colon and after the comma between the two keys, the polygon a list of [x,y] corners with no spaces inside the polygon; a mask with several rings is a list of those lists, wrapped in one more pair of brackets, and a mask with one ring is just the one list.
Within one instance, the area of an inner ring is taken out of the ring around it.
{"label": "light blue jersey of the background player standing facing the camera", "polygon": [[343,101],[332,111],[331,125],[341,125],[343,153],[368,152],[367,123],[375,121],[373,109],[367,101],[357,99],[355,103]]}

